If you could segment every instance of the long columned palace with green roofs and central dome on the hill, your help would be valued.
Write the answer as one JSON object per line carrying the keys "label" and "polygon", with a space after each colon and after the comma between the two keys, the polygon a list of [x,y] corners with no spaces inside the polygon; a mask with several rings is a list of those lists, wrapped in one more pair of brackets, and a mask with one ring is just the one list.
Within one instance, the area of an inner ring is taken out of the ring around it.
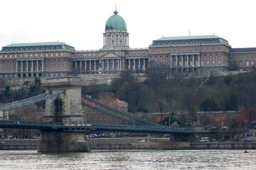
{"label": "long columned palace with green roofs and central dome on the hill", "polygon": [[108,18],[100,50],[75,50],[63,42],[16,43],[2,47],[0,78],[63,77],[69,74],[255,71],[256,47],[232,48],[215,35],[164,37],[148,48],[129,47],[124,19],[114,11]]}

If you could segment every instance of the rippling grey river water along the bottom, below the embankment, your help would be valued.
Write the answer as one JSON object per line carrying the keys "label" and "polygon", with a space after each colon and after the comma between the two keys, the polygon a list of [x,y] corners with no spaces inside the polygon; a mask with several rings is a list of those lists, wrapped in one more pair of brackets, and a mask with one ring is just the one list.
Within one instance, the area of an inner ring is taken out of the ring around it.
{"label": "rippling grey river water along the bottom, below the embankment", "polygon": [[256,150],[0,151],[0,169],[256,169]]}

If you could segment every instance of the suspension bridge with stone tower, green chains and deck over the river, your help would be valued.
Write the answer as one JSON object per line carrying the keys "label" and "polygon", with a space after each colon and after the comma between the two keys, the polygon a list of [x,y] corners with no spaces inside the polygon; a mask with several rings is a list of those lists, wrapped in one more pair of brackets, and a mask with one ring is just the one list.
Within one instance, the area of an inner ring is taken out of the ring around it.
{"label": "suspension bridge with stone tower, green chains and deck over the river", "polygon": [[[6,113],[0,128],[41,130],[38,152],[90,151],[85,136],[94,131],[162,133],[179,138],[193,134],[193,130],[160,125],[99,103],[81,94],[82,84],[77,77],[48,79],[43,86],[44,94],[0,106],[0,111]],[[94,110],[102,123],[87,120],[82,106]]]}

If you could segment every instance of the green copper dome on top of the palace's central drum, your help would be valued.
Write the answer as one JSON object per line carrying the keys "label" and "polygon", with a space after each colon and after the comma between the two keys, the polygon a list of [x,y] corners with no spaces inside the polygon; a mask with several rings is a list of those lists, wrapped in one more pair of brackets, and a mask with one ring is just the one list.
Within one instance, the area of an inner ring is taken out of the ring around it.
{"label": "green copper dome on top of the palace's central drum", "polygon": [[117,30],[127,30],[126,23],[122,16],[117,15],[117,11],[114,11],[114,15],[108,18],[105,30],[117,29]]}

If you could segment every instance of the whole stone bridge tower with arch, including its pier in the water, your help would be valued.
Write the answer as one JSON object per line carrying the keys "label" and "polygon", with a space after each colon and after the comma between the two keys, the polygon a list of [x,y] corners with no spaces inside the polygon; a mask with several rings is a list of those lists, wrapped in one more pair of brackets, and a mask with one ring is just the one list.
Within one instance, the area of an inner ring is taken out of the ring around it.
{"label": "whole stone bridge tower with arch, including its pier in the water", "polygon": [[[81,89],[79,77],[60,77],[47,79],[43,84],[46,92],[53,94],[65,93],[46,100],[45,120],[63,123],[65,127],[82,125],[83,113],[81,104]],[[42,130],[42,140],[38,152],[89,152],[85,132],[73,130]]]}

